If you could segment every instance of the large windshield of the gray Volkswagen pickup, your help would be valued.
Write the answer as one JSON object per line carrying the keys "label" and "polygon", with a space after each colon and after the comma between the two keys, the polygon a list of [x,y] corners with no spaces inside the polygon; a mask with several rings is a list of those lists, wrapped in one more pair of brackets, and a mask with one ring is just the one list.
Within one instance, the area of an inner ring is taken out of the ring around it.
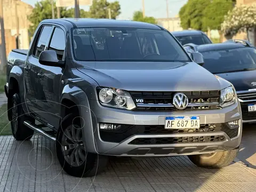
{"label": "large windshield of the gray Volkswagen pickup", "polygon": [[75,28],[73,40],[75,59],[81,61],[190,61],[164,30]]}

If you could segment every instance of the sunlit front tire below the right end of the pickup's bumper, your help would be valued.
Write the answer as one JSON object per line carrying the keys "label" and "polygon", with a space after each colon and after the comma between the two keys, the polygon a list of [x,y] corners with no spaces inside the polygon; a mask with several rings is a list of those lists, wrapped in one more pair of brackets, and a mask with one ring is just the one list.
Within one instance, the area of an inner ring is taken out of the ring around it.
{"label": "sunlit front tire below the right end of the pickup's bumper", "polygon": [[191,162],[207,169],[220,169],[232,163],[238,153],[237,149],[220,151],[214,154],[189,155]]}

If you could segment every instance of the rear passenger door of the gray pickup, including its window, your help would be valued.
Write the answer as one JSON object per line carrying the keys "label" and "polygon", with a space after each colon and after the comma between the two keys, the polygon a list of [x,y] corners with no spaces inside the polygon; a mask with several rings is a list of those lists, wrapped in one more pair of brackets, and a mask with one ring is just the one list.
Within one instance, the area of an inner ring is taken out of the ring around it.
{"label": "rear passenger door of the gray pickup, including its window", "polygon": [[42,95],[42,87],[38,78],[40,64],[38,62],[39,54],[46,49],[47,42],[49,42],[52,26],[41,26],[33,44],[31,44],[30,51],[25,63],[24,82],[25,82],[25,101],[28,111],[31,115],[39,117],[39,103],[44,99]]}

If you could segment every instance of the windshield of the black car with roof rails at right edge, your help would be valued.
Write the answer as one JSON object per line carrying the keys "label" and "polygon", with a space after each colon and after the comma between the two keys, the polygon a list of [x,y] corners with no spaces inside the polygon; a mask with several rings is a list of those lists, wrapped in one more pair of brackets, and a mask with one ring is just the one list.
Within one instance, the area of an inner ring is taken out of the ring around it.
{"label": "windshield of the black car with roof rails at right edge", "polygon": [[211,73],[256,69],[256,49],[252,47],[201,53],[204,57],[203,67]]}

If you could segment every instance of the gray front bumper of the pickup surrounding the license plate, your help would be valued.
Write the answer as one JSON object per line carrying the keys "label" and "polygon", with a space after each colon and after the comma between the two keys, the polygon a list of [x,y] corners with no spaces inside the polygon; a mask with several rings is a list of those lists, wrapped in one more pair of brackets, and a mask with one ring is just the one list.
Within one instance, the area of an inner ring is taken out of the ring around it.
{"label": "gray front bumper of the pickup surrounding the license plate", "polygon": [[[230,107],[215,110],[195,110],[195,111],[175,111],[175,112],[149,112],[149,111],[127,111],[114,108],[102,107],[98,101],[91,100],[90,108],[93,113],[92,126],[94,140],[86,138],[86,142],[94,142],[94,148],[87,149],[89,152],[115,155],[115,156],[175,156],[175,155],[194,155],[203,153],[213,153],[237,148],[241,142],[242,121],[235,137],[230,138],[228,132],[187,132],[187,133],[150,133],[134,132],[129,137],[118,141],[109,142],[101,138],[99,123],[126,124],[126,125],[159,125],[165,124],[166,116],[200,116],[200,124],[223,124],[230,121],[241,119],[241,107],[238,102]],[[116,134],[116,137],[119,137]],[[219,138],[211,140],[211,138]],[[150,138],[150,139],[148,139]],[[133,142],[138,139],[146,140],[170,140],[171,138],[188,138],[188,142],[165,142],[154,144]],[[193,139],[194,138],[194,139]],[[199,139],[198,139],[199,138]],[[204,142],[200,138],[210,138]],[[191,140],[191,142],[190,142]],[[201,142],[202,141],[202,142]],[[89,145],[92,146],[92,145]]]}

